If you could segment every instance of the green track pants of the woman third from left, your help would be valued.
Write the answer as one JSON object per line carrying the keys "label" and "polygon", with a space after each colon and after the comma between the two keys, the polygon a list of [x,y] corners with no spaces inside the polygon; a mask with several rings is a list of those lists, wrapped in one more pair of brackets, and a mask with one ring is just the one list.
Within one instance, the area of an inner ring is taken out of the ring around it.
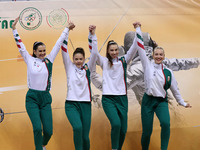
{"label": "green track pants of the woman third from left", "polygon": [[126,95],[103,95],[102,105],[111,124],[112,149],[121,150],[127,132],[128,99]]}

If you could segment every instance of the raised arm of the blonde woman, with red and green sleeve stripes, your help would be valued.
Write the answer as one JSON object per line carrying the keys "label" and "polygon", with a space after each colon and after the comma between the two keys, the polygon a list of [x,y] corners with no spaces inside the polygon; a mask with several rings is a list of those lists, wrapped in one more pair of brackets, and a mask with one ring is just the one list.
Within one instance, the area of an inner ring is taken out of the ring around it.
{"label": "raised arm of the blonde woman, with red and green sleeve stripes", "polygon": [[138,47],[138,53],[142,62],[142,66],[144,68],[144,70],[146,70],[147,68],[149,68],[148,66],[150,65],[150,61],[148,59],[148,57],[146,56],[146,52],[144,49],[144,41],[142,38],[142,32],[141,32],[141,24],[139,22],[136,22],[133,24],[134,28],[136,29],[135,32],[135,38],[137,38],[137,47]]}

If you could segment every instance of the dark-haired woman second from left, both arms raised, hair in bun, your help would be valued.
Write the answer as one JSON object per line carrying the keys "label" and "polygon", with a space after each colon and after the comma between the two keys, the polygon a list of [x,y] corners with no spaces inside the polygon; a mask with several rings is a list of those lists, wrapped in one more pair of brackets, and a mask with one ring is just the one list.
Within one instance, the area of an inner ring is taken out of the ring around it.
{"label": "dark-haired woman second from left, both arms raised, hair in bun", "polygon": [[96,26],[89,26],[89,47],[91,56],[85,63],[83,48],[76,48],[73,53],[73,62],[70,60],[67,43],[68,36],[62,45],[62,57],[67,76],[67,98],[65,101],[65,113],[72,125],[74,145],[76,150],[90,149],[90,124],[91,124],[91,88],[90,72],[96,67],[97,38]]}

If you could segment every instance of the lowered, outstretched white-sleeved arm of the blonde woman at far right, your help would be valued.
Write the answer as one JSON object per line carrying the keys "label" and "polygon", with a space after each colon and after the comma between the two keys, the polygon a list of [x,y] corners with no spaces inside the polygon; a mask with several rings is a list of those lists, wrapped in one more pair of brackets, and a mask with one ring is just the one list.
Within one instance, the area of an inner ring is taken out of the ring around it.
{"label": "lowered, outstretched white-sleeved arm of the blonde woman at far right", "polygon": [[190,108],[191,105],[189,103],[184,102],[183,98],[181,97],[181,94],[178,89],[177,81],[172,71],[171,71],[171,75],[172,75],[171,77],[172,79],[171,79],[170,90],[172,91],[172,94],[174,95],[176,101],[178,102],[179,105],[182,105],[186,108]]}

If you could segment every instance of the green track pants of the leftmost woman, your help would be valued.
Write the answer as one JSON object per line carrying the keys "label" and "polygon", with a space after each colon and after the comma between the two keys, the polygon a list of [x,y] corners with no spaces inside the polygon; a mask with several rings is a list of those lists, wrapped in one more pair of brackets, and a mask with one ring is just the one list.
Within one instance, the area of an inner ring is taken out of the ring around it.
{"label": "green track pants of the leftmost woman", "polygon": [[26,94],[26,111],[32,122],[36,150],[42,150],[53,133],[51,102],[48,91],[29,89]]}

